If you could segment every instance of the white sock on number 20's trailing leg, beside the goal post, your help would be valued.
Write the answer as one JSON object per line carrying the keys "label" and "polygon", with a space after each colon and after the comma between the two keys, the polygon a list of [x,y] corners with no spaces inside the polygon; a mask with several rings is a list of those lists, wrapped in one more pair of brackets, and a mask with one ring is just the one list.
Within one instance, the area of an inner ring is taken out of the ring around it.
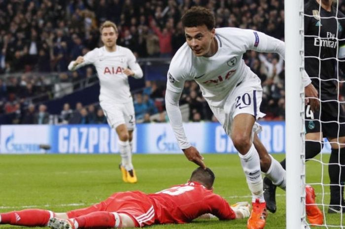
{"label": "white sock on number 20's trailing leg, beside the goal post", "polygon": [[272,183],[276,186],[279,186],[281,189],[285,190],[286,188],[286,171],[283,168],[283,166],[281,166],[280,163],[277,162],[276,159],[274,159],[271,155],[270,155],[271,159],[272,159],[272,163],[270,168],[267,170],[267,172],[264,172],[264,174],[270,178],[270,180],[272,181]]}

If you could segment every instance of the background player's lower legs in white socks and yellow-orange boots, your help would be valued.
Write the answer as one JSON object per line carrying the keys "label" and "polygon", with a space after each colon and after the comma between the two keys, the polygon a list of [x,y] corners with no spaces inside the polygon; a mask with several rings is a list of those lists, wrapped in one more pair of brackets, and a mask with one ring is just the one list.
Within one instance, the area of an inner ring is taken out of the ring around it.
{"label": "background player's lower legs in white socks and yellow-orange boots", "polygon": [[122,173],[122,179],[124,182],[136,183],[138,179],[132,164],[132,151],[129,142],[130,133],[125,124],[117,126],[115,130],[117,135],[119,136],[119,149],[121,154],[120,170]]}

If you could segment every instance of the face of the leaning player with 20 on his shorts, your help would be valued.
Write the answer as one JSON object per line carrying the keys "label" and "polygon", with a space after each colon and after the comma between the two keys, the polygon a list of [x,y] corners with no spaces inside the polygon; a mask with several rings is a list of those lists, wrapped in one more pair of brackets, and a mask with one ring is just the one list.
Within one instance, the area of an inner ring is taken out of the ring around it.
{"label": "face of the leaning player with 20 on his shorts", "polygon": [[212,56],[214,54],[212,53],[213,50],[211,50],[211,43],[214,42],[214,29],[209,31],[206,25],[185,27],[184,34],[187,44],[192,49],[195,56]]}

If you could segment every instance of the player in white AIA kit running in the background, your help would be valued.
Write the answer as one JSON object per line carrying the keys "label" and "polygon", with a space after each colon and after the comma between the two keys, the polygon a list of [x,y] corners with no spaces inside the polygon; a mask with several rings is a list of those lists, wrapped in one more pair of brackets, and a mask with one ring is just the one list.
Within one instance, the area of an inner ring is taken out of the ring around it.
{"label": "player in white AIA kit running in the background", "polygon": [[85,56],[79,56],[69,64],[69,70],[84,65],[95,65],[100,79],[100,105],[108,124],[119,137],[120,169],[124,182],[136,183],[137,175],[132,164],[132,138],[135,128],[135,112],[128,77],[142,78],[142,70],[136,57],[128,48],[116,45],[117,27],[105,21],[101,28],[104,46],[95,48]]}

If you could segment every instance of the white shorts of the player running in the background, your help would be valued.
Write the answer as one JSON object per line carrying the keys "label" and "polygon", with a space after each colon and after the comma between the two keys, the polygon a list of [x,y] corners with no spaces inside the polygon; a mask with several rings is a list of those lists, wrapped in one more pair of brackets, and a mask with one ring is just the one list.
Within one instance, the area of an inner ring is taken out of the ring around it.
{"label": "white shorts of the player running in the background", "polygon": [[133,102],[114,103],[112,100],[101,100],[100,105],[104,115],[112,129],[116,129],[121,124],[126,124],[129,131],[133,131],[136,126],[136,115]]}

